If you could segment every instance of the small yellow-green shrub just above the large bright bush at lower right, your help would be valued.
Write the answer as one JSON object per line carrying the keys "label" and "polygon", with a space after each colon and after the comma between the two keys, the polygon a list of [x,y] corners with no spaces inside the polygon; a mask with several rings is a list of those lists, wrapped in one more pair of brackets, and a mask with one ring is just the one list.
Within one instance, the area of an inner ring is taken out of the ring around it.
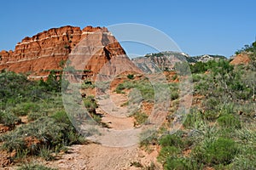
{"label": "small yellow-green shrub just above the large bright bush at lower right", "polygon": [[241,128],[240,120],[231,114],[219,116],[217,121],[221,127]]}

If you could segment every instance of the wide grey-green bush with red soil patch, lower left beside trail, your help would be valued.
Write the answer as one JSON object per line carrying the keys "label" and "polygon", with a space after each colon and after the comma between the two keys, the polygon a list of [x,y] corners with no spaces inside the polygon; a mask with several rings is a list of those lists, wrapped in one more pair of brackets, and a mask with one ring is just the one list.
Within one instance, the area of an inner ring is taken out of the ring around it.
{"label": "wide grey-green bush with red soil patch, lower left beside trail", "polygon": [[44,116],[35,122],[20,126],[10,133],[3,134],[1,136],[3,150],[19,150],[21,152],[28,150],[29,155],[38,155],[42,148],[54,150],[55,146],[60,144],[79,144],[79,134],[76,134],[76,138],[74,138],[73,134],[76,132],[74,127],[71,126],[71,123],[62,122],[63,120],[66,118],[55,119]]}

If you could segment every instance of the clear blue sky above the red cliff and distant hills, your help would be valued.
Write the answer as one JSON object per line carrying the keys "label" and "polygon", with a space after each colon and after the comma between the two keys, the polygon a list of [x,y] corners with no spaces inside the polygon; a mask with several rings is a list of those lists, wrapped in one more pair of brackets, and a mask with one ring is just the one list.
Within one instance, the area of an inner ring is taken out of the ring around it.
{"label": "clear blue sky above the red cliff and distant hills", "polygon": [[172,37],[190,55],[229,57],[256,36],[254,0],[3,0],[0,4],[0,50],[14,49],[26,36],[67,25],[153,26]]}

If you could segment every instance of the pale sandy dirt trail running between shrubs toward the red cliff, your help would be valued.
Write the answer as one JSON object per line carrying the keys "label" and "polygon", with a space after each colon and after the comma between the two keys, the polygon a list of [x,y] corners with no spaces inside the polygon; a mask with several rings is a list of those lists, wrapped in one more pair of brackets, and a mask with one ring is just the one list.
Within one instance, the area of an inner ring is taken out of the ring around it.
{"label": "pale sandy dirt trail running between shrubs toward the red cliff", "polygon": [[[96,112],[102,114],[102,122],[108,123],[110,129],[135,128],[134,118],[127,116],[127,106],[122,106],[127,101],[125,94],[113,93],[110,99],[108,96],[101,96],[97,101],[99,108]],[[128,147],[109,147],[102,144],[73,145],[70,150],[71,153],[61,156],[60,160],[47,162],[48,166],[59,169],[136,170],[149,167],[154,162],[158,166],[156,169],[161,169],[156,161],[158,148],[154,148],[150,154],[141,150],[137,144]],[[143,167],[134,167],[132,162],[139,162]]]}

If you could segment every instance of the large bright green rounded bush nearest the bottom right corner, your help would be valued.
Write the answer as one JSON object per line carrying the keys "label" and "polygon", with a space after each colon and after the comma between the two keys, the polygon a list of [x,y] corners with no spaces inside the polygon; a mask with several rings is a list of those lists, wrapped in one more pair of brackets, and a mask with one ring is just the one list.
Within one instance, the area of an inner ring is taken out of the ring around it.
{"label": "large bright green rounded bush nearest the bottom right corner", "polygon": [[195,147],[193,156],[199,163],[207,165],[227,165],[237,153],[236,142],[232,139],[218,138],[213,142]]}

